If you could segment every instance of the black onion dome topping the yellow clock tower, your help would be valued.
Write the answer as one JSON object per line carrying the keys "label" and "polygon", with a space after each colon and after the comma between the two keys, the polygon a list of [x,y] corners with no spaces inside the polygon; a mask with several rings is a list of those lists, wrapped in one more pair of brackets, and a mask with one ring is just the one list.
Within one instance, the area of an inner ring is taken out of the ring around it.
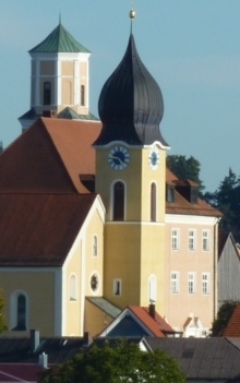
{"label": "black onion dome topping the yellow clock tower", "polygon": [[149,145],[163,139],[159,123],[164,113],[160,88],[141,61],[133,35],[124,57],[106,81],[98,100],[103,130],[96,145],[124,141],[131,145]]}

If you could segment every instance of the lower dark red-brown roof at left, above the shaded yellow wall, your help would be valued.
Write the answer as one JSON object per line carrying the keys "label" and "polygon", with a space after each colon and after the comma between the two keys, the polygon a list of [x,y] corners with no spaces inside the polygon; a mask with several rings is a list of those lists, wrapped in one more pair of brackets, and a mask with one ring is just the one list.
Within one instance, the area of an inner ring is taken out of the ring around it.
{"label": "lower dark red-brown roof at left, above the shaded yellow wall", "polygon": [[0,266],[62,265],[95,199],[1,193]]}

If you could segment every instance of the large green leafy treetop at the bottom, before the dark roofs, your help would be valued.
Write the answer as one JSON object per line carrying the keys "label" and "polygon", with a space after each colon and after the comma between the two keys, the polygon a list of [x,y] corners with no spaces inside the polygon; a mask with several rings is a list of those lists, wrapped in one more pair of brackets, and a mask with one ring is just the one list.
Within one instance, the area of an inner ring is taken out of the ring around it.
{"label": "large green leafy treetop at the bottom, before the dark roofs", "polygon": [[160,350],[141,351],[135,344],[92,346],[63,364],[44,372],[41,383],[183,383],[178,363]]}

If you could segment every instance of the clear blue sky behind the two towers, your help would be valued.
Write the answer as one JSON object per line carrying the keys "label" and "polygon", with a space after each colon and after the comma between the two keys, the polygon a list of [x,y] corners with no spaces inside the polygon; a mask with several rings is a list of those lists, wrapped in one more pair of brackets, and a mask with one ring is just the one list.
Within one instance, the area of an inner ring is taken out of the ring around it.
{"label": "clear blue sky behind the two towers", "polygon": [[129,11],[142,61],[165,101],[160,129],[170,154],[193,155],[214,191],[229,167],[240,175],[239,0],[0,0],[0,140],[21,134],[17,118],[29,107],[27,51],[59,22],[91,57],[91,110],[121,60]]}

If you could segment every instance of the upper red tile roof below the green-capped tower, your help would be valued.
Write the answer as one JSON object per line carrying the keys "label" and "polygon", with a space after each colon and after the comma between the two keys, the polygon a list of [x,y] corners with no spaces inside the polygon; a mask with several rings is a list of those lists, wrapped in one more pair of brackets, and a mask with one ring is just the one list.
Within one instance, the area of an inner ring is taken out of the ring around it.
{"label": "upper red tile roof below the green-capped tower", "polygon": [[93,142],[100,123],[37,120],[0,156],[0,190],[88,193],[81,173],[95,173]]}

